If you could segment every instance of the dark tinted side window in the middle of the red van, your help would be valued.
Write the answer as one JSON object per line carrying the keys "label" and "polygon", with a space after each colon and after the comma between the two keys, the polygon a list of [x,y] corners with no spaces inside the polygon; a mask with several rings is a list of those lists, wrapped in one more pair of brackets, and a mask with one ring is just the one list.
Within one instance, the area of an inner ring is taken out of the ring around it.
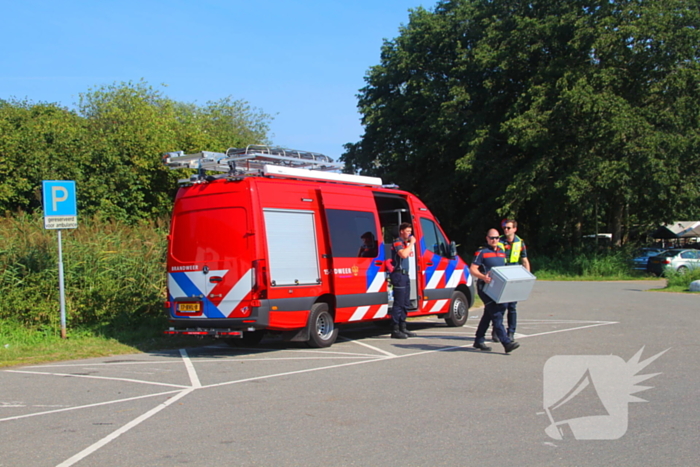
{"label": "dark tinted side window in the middle of the red van", "polygon": [[377,225],[373,213],[327,209],[326,216],[333,257],[377,256]]}

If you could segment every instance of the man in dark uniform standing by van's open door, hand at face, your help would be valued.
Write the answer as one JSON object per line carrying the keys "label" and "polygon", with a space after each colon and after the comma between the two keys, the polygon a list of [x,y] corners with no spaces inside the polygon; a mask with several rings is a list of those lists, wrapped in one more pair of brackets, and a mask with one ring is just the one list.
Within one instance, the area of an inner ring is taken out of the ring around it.
{"label": "man in dark uniform standing by van's open door, hand at face", "polygon": [[391,307],[391,337],[406,339],[415,337],[416,333],[406,328],[406,314],[411,306],[411,282],[408,277],[409,257],[413,253],[416,238],[412,235],[413,227],[408,222],[399,226],[399,238],[391,246],[391,260],[394,267],[389,278],[394,290],[394,305]]}

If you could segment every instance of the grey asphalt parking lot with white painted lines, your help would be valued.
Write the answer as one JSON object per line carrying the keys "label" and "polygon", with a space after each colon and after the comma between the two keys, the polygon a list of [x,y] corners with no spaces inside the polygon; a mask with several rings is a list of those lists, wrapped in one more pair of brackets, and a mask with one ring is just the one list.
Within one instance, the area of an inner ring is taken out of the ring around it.
{"label": "grey asphalt parking lot with white painted lines", "polygon": [[660,286],[538,282],[510,355],[472,348],[472,310],[408,340],[10,368],[0,466],[697,465],[700,296]]}

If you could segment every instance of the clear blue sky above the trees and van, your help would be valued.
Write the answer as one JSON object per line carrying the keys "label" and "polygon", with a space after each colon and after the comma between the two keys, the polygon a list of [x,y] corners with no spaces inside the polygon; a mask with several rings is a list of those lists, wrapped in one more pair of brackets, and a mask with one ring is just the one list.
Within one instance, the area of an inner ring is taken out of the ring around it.
{"label": "clear blue sky above the trees and van", "polygon": [[90,88],[144,79],[181,102],[246,100],[274,116],[274,144],[337,158],[343,144],[362,134],[356,95],[367,70],[379,64],[383,39],[398,36],[410,8],[434,3],[0,0],[0,5],[0,99],[72,108]]}

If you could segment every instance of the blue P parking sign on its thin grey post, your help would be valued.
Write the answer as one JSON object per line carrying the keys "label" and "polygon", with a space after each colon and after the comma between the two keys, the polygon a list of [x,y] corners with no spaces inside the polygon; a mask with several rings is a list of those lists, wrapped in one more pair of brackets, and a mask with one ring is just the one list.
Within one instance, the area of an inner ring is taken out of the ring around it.
{"label": "blue P parking sign on its thin grey post", "polygon": [[78,227],[78,205],[73,180],[44,180],[44,228],[58,231],[58,289],[61,303],[61,338],[66,338],[66,294],[63,280],[62,229]]}

